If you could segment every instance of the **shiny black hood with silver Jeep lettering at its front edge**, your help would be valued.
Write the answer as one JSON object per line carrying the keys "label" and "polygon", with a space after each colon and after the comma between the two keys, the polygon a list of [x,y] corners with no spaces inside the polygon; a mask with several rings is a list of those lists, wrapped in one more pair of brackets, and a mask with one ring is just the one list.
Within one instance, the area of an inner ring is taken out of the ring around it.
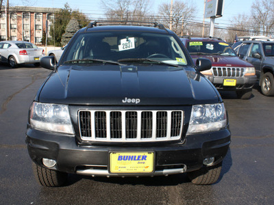
{"label": "shiny black hood with silver Jeep lettering at its front edge", "polygon": [[197,105],[221,101],[194,68],[169,66],[60,66],[36,100],[70,105]]}

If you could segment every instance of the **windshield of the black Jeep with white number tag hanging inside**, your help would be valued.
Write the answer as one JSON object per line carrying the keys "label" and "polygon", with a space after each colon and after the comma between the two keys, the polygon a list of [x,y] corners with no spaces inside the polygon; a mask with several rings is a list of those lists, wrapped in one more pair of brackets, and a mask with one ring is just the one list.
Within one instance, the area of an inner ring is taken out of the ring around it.
{"label": "windshield of the black Jeep with white number tag hanging inside", "polygon": [[[173,36],[142,31],[80,33],[66,50],[60,64],[99,63],[98,60],[121,64],[188,64],[184,51]],[[75,61],[80,59],[85,60]]]}

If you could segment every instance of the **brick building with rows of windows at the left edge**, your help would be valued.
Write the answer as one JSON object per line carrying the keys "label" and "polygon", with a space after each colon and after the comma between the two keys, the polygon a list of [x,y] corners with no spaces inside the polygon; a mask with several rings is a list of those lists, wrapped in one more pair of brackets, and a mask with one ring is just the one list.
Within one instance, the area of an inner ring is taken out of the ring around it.
{"label": "brick building with rows of windows at the left edge", "polygon": [[0,40],[8,38],[8,40],[25,40],[41,44],[42,33],[46,32],[46,25],[48,25],[48,38],[51,38],[49,34],[51,19],[58,11],[60,11],[58,8],[14,6],[10,7],[6,14],[5,7],[3,7],[0,16]]}

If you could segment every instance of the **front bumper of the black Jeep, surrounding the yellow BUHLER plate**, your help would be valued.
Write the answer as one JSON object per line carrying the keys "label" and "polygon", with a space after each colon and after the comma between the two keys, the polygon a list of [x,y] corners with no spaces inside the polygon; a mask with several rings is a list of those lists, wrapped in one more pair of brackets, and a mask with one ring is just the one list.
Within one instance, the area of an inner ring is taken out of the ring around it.
{"label": "front bumper of the black Jeep, surrounding the yellow BUHLER plate", "polygon": [[[123,174],[126,176],[155,176],[179,174],[200,169],[203,159],[214,156],[217,164],[223,160],[230,143],[228,128],[212,133],[187,135],[184,141],[153,143],[146,146],[111,144],[80,146],[74,135],[46,133],[27,128],[27,149],[32,161],[42,164],[42,158],[54,159],[57,163],[50,169],[72,174],[90,176],[121,176],[111,174],[110,152],[154,152],[154,171],[149,174]],[[49,168],[49,167],[46,167]]]}

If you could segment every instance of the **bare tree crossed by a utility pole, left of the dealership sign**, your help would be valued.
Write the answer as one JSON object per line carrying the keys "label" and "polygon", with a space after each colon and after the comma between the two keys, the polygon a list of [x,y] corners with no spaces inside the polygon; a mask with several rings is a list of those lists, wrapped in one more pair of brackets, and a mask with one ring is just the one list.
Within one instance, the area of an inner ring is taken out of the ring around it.
{"label": "bare tree crossed by a utility pole, left of the dealership sign", "polygon": [[192,1],[178,1],[173,3],[173,11],[171,16],[171,3],[163,3],[159,6],[159,14],[163,20],[163,24],[168,27],[172,21],[173,31],[179,34],[182,27],[191,20],[197,10],[195,4]]}

